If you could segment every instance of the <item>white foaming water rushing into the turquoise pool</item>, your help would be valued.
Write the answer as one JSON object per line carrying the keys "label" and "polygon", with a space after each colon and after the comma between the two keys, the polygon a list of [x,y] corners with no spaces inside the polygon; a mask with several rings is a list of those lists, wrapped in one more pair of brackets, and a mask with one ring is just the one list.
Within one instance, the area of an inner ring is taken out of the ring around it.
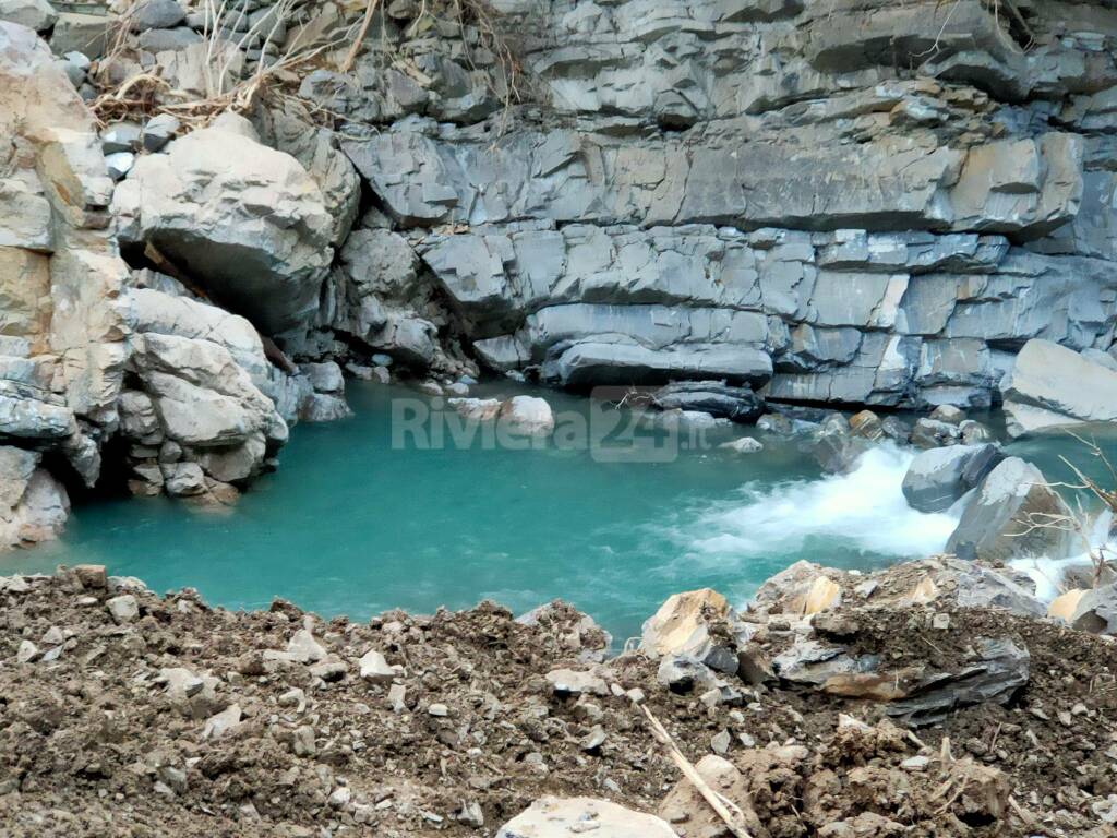
{"label": "white foaming water rushing into the turquoise pool", "polygon": [[894,446],[866,453],[849,474],[776,485],[746,484],[739,498],[677,527],[691,560],[770,558],[818,541],[886,556],[942,552],[957,524],[956,508],[926,514],[907,505],[900,485],[914,455]]}

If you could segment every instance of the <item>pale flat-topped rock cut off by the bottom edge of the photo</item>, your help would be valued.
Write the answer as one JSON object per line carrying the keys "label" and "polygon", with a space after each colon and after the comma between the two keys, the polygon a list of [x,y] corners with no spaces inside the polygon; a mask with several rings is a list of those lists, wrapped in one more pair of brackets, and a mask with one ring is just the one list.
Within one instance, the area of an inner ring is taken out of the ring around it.
{"label": "pale flat-topped rock cut off by the bottom edge of the photo", "polygon": [[505,823],[497,838],[677,838],[655,815],[626,809],[594,798],[541,798]]}

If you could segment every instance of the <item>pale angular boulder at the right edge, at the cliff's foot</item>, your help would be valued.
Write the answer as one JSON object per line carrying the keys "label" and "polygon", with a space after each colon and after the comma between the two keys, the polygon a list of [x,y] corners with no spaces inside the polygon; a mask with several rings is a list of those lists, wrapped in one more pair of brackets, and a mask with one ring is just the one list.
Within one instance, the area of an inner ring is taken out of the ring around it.
{"label": "pale angular boulder at the right edge, at the cliff's foot", "polygon": [[1051,341],[1025,343],[1001,391],[1014,437],[1117,420],[1117,371]]}

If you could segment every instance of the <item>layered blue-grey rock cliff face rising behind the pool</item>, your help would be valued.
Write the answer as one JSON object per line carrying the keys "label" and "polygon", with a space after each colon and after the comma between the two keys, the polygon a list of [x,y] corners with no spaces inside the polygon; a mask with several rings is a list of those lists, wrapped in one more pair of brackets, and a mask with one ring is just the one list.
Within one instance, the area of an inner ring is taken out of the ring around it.
{"label": "layered blue-grey rock cliff face rising behind the pool", "polygon": [[1029,339],[1108,349],[1113,10],[499,6],[537,109],[343,145],[485,363],[981,406]]}

